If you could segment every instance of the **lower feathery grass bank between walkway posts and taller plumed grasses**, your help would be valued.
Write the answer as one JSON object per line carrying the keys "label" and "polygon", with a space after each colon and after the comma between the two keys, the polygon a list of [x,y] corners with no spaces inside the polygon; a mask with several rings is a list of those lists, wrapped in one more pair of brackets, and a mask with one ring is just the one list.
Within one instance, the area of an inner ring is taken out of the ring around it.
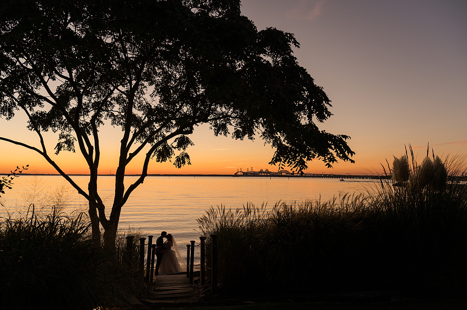
{"label": "lower feathery grass bank between walkway posts and taller plumed grasses", "polygon": [[356,249],[362,246],[363,202],[361,195],[344,195],[279,202],[269,211],[252,204],[236,210],[221,206],[210,208],[198,223],[205,236],[219,235],[218,270],[226,288],[342,289],[358,276],[348,266],[358,262]]}

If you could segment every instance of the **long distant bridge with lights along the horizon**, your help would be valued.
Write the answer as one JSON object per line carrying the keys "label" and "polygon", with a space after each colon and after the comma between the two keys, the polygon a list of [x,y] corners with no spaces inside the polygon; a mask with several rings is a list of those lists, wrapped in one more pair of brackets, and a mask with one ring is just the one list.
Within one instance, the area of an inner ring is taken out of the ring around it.
{"label": "long distant bridge with lights along the horizon", "polygon": [[267,178],[317,178],[317,179],[391,179],[391,176],[380,175],[352,175],[333,173],[292,173],[292,172],[272,172],[272,171],[238,171],[234,177],[267,177]]}

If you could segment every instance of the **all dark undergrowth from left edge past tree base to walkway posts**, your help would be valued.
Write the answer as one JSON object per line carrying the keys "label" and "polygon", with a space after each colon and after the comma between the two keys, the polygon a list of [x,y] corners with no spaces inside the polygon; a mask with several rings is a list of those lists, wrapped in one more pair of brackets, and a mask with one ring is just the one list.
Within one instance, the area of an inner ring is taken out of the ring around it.
{"label": "all dark undergrowth from left edge past tree base to walkway posts", "polygon": [[94,248],[83,216],[57,214],[55,207],[38,215],[32,207],[26,216],[0,219],[2,309],[124,306],[141,294],[139,242],[128,256],[125,233],[118,234],[116,253],[106,254]]}

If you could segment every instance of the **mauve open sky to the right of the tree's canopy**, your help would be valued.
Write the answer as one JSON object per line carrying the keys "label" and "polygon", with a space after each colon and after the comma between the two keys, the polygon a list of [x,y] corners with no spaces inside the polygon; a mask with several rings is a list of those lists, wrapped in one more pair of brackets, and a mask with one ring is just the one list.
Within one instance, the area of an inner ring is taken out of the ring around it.
{"label": "mauve open sky to the right of the tree's canopy", "polygon": [[357,152],[334,170],[376,167],[408,143],[467,153],[467,1],[246,0],[242,13],[301,43],[298,62],[333,101],[321,128]]}

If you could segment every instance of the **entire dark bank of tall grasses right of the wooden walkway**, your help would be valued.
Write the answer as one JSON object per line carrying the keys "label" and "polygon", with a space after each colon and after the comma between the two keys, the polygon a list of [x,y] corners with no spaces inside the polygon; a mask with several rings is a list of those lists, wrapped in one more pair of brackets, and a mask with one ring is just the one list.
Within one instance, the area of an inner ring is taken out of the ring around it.
{"label": "entire dark bank of tall grasses right of the wooden walkway", "polygon": [[219,235],[227,289],[467,292],[467,186],[459,178],[436,186],[381,182],[358,196],[269,211],[221,206],[198,222],[206,236]]}

